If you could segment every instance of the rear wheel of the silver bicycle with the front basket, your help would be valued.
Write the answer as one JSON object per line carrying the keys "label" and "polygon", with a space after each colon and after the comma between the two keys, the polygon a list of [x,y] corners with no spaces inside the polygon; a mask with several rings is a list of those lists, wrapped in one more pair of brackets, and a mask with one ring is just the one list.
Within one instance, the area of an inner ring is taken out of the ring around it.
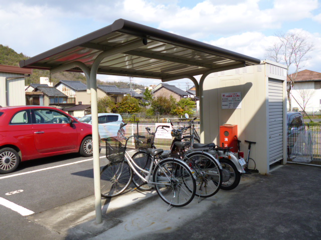
{"label": "rear wheel of the silver bicycle with the front basket", "polygon": [[160,161],[153,172],[158,195],[172,206],[189,204],[196,192],[194,175],[186,164],[175,158]]}

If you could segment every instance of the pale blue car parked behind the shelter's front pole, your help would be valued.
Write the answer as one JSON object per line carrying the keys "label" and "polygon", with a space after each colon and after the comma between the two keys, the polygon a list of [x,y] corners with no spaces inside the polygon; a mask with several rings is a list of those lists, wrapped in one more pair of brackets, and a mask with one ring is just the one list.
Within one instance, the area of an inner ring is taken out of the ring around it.
{"label": "pale blue car parked behind the shelter's front pole", "polygon": [[[91,114],[79,118],[80,122],[92,124]],[[122,117],[117,113],[98,113],[98,131],[101,138],[117,136]]]}

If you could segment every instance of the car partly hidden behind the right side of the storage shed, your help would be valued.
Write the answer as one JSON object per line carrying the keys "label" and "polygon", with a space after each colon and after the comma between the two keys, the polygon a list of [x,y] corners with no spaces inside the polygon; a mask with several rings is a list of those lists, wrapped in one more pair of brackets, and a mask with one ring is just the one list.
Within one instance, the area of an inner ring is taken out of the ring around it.
{"label": "car partly hidden behind the right side of the storage shed", "polygon": [[287,123],[287,154],[291,154],[296,139],[301,132],[305,132],[303,116],[301,112],[289,111],[286,113]]}

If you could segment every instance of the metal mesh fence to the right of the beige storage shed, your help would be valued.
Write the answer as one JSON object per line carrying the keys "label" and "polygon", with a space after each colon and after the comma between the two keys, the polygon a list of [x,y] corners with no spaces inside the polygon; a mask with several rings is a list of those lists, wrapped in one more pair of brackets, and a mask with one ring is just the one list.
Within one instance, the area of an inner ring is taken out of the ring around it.
{"label": "metal mesh fence to the right of the beige storage shed", "polygon": [[287,156],[288,161],[321,165],[321,124],[287,124]]}

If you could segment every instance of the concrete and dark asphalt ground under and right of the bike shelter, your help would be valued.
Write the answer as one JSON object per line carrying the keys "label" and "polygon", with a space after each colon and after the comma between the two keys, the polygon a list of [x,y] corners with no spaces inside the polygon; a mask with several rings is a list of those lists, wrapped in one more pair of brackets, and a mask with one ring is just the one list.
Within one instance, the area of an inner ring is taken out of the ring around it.
{"label": "concrete and dark asphalt ground under and right of the bike shelter", "polygon": [[93,196],[27,219],[56,239],[321,239],[320,182],[320,167],[288,163],[185,207],[168,210],[155,192],[129,191],[102,199],[100,224]]}

